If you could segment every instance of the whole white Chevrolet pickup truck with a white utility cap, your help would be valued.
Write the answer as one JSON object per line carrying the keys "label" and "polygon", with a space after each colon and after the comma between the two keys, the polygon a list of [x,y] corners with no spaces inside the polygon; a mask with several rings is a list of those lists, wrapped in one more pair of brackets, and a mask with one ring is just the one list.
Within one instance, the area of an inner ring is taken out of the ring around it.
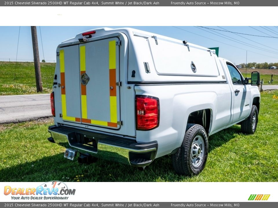
{"label": "whole white Chevrolet pickup truck with a white utility cap", "polygon": [[171,154],[178,174],[203,170],[208,136],[258,122],[251,83],[215,51],[131,28],[100,28],[58,45],[50,142],[79,163],[96,158],[144,169]]}

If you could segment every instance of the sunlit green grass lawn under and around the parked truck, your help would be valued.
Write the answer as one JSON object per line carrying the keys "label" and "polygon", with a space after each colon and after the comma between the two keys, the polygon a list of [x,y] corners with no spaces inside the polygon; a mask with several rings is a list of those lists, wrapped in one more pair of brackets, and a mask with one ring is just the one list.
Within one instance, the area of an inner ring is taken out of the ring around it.
{"label": "sunlit green grass lawn under and around the parked truck", "polygon": [[278,181],[278,90],[261,94],[259,123],[254,135],[240,126],[209,138],[203,172],[175,174],[170,156],[156,159],[145,171],[99,159],[80,165],[63,157],[64,148],[50,143],[52,118],[0,125],[0,181]]}

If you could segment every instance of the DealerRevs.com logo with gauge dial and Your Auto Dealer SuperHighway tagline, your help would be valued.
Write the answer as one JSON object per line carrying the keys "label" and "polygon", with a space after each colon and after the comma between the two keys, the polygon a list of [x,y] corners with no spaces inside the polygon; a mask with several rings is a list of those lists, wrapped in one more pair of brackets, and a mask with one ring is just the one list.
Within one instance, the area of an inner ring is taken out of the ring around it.
{"label": "DealerRevs.com logo with gauge dial and Your Auto Dealer SuperHighway tagline", "polygon": [[11,198],[15,200],[67,200],[69,195],[75,194],[75,189],[69,189],[67,185],[61,181],[50,181],[36,188],[5,186],[4,194],[6,196],[11,195]]}

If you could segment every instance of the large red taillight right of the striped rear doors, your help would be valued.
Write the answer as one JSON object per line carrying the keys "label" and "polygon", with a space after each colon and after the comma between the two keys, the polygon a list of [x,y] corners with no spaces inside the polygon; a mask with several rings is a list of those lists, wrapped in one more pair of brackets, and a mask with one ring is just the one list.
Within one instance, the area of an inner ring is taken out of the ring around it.
{"label": "large red taillight right of the striped rear doors", "polygon": [[147,95],[136,95],[136,129],[151,130],[159,125],[159,99]]}

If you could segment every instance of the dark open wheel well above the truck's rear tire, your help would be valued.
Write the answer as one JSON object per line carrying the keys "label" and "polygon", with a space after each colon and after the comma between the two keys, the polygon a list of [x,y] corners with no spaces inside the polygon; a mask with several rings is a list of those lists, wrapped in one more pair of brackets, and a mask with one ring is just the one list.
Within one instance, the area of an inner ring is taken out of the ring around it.
{"label": "dark open wheel well above the truck's rear tire", "polygon": [[206,133],[209,134],[209,127],[211,123],[211,110],[202,109],[192,112],[188,116],[187,123],[200,124],[206,130]]}

